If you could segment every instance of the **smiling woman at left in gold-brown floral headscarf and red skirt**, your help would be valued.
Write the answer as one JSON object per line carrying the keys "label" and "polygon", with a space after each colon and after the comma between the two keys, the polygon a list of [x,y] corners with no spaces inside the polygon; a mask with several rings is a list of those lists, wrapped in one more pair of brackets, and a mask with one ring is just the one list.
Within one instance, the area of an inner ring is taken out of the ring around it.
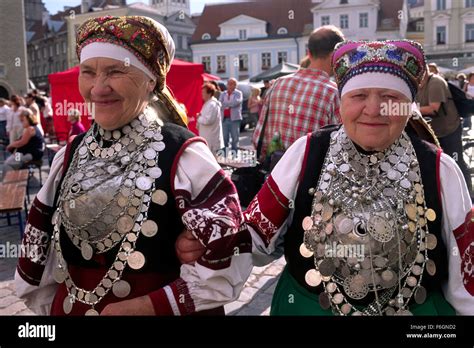
{"label": "smiling woman at left in gold-brown floral headscarf and red skirt", "polygon": [[[40,313],[53,294],[52,315],[223,314],[250,274],[251,239],[235,187],[166,87],[168,31],[90,19],[77,54],[95,124],[56,155],[33,203],[17,293]],[[184,228],[205,253],[181,266]]]}

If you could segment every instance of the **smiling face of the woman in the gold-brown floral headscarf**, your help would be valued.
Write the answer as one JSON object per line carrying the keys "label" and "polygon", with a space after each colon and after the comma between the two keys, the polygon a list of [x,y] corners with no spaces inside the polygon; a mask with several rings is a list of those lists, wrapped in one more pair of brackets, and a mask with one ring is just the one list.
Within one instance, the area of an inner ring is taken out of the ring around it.
{"label": "smiling face of the woman in the gold-brown floral headscarf", "polygon": [[95,121],[104,129],[123,127],[148,104],[155,82],[138,68],[112,58],[81,63],[79,91],[92,104]]}

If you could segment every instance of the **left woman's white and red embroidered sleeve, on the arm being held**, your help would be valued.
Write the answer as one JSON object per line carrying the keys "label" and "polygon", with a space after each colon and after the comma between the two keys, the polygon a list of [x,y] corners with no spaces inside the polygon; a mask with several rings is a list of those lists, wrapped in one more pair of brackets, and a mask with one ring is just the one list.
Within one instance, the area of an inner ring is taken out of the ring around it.
{"label": "left woman's white and red embroidered sleeve, on the arm being held", "polygon": [[[175,315],[235,300],[252,269],[251,239],[241,229],[235,186],[204,143],[184,146],[174,177],[174,196],[185,228],[206,251],[194,264],[182,265],[180,279],[163,289]],[[160,302],[160,298],[152,296],[152,301]],[[155,308],[159,310],[159,303]]]}

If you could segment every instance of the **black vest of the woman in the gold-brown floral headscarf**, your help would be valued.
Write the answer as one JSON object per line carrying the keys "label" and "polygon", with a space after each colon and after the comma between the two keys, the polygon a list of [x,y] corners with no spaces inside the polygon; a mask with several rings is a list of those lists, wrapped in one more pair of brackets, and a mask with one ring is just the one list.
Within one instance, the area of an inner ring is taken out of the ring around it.
{"label": "black vest of the woman in the gold-brown floral headscarf", "polygon": [[[155,189],[165,191],[168,195],[168,201],[163,206],[150,202],[148,219],[151,219],[157,223],[158,233],[151,238],[145,237],[143,235],[139,236],[136,243],[136,250],[142,252],[143,255],[145,255],[145,265],[139,270],[133,270],[133,272],[177,272],[179,274],[181,263],[176,257],[175,242],[178,235],[183,231],[184,226],[181,221],[181,215],[179,214],[176,207],[174,196],[171,192],[171,167],[178,151],[184,142],[190,138],[195,137],[195,135],[189,130],[172,123],[165,123],[165,125],[161,127],[161,133],[163,135],[163,142],[165,143],[166,147],[159,153],[158,164],[162,170],[162,175],[156,179]],[[73,154],[77,150],[77,147],[84,135],[85,133],[74,138],[69,152],[70,155],[65,158],[66,168],[69,168]],[[66,170],[64,171],[64,174],[66,173]],[[63,175],[61,178],[58,190],[56,191],[54,207],[57,206],[59,191],[64,176],[65,175]],[[69,265],[85,268],[98,268],[104,267],[104,265],[106,267],[110,267],[115,260],[121,244],[118,243],[111,250],[103,254],[99,254],[102,257],[101,262],[99,263],[97,260],[95,260],[97,256],[94,256],[91,260],[85,260],[81,256],[80,249],[78,249],[72,243],[63,229],[61,229],[60,241],[66,262]]]}

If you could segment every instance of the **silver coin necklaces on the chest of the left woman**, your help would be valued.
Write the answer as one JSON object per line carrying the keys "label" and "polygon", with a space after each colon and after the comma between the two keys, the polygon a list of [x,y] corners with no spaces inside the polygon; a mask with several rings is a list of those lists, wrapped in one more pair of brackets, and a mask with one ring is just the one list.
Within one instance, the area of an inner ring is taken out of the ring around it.
{"label": "silver coin necklaces on the chest of the left woman", "polygon": [[[141,234],[156,235],[158,225],[147,220],[150,202],[163,205],[167,200],[164,191],[155,190],[155,180],[162,174],[159,152],[165,145],[152,115],[145,112],[113,132],[94,125],[73,155],[53,215],[58,259],[54,278],[68,289],[66,314],[80,301],[91,306],[86,315],[97,315],[94,306],[110,290],[117,297],[128,296],[130,284],[122,280],[125,268],[145,265],[144,255],[136,250],[137,239]],[[114,262],[93,290],[79,288],[71,278],[61,250],[61,227],[85,260],[119,245]]]}

